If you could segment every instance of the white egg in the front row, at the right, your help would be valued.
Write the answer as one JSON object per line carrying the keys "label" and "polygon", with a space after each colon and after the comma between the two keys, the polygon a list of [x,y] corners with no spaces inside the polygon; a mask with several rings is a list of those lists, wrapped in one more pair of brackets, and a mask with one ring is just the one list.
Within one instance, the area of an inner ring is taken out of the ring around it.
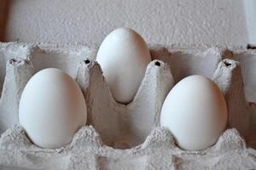
{"label": "white egg in the front row, at the right", "polygon": [[190,76],[178,82],[162,106],[160,124],[184,150],[204,150],[224,131],[227,106],[212,80]]}

